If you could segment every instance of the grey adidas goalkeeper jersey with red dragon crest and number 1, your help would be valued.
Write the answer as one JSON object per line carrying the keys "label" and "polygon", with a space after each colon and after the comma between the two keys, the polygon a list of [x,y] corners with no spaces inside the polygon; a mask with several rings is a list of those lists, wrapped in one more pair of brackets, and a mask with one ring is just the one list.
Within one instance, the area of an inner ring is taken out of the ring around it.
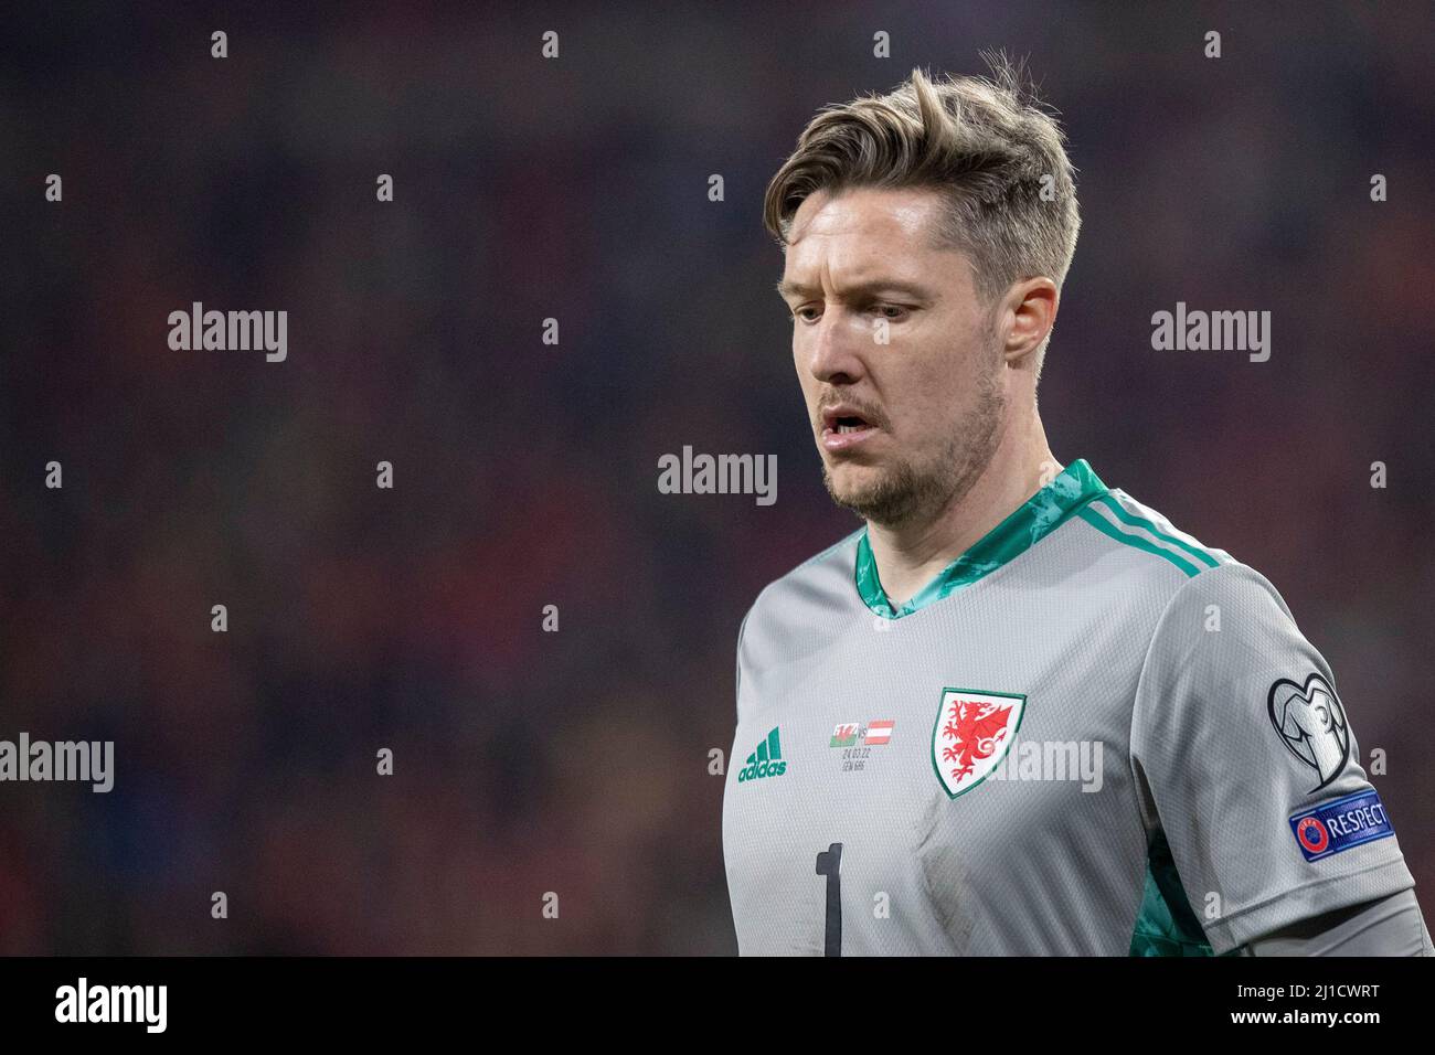
{"label": "grey adidas goalkeeper jersey with red dragon crest and number 1", "polygon": [[1276,589],[1085,461],[901,607],[861,530],[739,632],[742,955],[1224,955],[1413,887],[1391,821]]}

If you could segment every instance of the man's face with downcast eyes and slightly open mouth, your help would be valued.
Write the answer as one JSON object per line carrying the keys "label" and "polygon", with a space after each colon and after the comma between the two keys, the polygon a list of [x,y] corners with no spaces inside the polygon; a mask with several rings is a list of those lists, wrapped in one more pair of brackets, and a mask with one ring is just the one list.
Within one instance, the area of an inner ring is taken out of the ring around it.
{"label": "man's face with downcast eyes and slightly open mouth", "polygon": [[1007,406],[969,258],[934,244],[940,210],[928,189],[818,191],[794,217],[779,286],[827,489],[888,527],[970,489]]}

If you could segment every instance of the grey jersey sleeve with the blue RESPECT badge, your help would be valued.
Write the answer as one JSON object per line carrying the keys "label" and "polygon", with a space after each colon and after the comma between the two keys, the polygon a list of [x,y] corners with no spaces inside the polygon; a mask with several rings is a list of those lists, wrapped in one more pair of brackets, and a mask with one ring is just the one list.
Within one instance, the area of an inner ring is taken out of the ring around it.
{"label": "grey jersey sleeve with the blue RESPECT badge", "polygon": [[1325,657],[1258,571],[1185,581],[1142,666],[1131,761],[1217,955],[1415,886]]}

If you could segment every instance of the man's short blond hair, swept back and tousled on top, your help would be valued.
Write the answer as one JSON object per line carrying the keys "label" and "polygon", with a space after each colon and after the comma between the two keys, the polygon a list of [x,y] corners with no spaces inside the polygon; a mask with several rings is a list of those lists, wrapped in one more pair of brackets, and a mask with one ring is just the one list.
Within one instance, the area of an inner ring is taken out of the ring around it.
{"label": "man's short blond hair, swept back and tousled on top", "polygon": [[[817,191],[930,187],[947,201],[936,243],[967,254],[989,306],[1023,278],[1043,276],[1059,290],[1081,230],[1076,168],[1022,67],[1002,53],[983,59],[992,79],[933,82],[913,69],[887,95],[822,108],[768,184],[763,222],[784,250]],[[1046,342],[1038,373],[1045,353]]]}

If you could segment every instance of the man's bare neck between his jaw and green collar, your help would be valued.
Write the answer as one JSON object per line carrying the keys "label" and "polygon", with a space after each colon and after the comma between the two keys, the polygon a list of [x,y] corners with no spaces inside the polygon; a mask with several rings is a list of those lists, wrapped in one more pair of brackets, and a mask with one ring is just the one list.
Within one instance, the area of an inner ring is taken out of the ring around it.
{"label": "man's bare neck between his jaw and green collar", "polygon": [[[1003,445],[1004,446],[1004,445]],[[883,591],[893,606],[911,600],[938,571],[971,548],[1036,494],[1062,466],[1045,438],[1020,451],[997,448],[976,484],[921,524],[898,528],[868,522],[867,537]]]}

